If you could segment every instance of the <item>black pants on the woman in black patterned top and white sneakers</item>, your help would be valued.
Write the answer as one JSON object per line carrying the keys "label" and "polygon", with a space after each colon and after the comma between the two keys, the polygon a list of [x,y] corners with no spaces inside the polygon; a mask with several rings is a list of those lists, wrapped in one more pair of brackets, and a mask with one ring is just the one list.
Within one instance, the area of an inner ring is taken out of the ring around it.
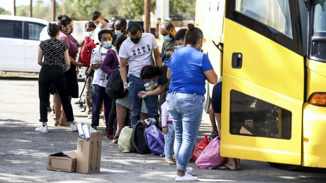
{"label": "black pants on the woman in black patterned top and white sneakers", "polygon": [[38,75],[38,96],[40,99],[40,122],[48,122],[48,101],[51,85],[57,89],[67,121],[74,121],[68,96],[66,77],[61,66],[43,66]]}

